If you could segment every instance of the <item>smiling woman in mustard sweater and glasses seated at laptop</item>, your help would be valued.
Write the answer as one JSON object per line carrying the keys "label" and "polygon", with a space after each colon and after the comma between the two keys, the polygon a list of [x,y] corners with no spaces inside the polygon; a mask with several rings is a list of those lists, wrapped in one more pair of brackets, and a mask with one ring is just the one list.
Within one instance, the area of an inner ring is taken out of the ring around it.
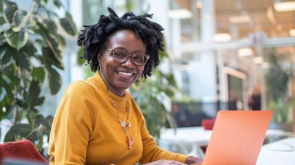
{"label": "smiling woman in mustard sweater and glasses seated at laptop", "polygon": [[[202,159],[164,151],[146,129],[128,89],[151,76],[163,50],[159,24],[151,14],[121,18],[108,8],[78,37],[95,76],[71,83],[58,105],[50,134],[51,164],[158,164],[167,159],[193,164]],[[102,152],[99,152],[102,151]]]}

